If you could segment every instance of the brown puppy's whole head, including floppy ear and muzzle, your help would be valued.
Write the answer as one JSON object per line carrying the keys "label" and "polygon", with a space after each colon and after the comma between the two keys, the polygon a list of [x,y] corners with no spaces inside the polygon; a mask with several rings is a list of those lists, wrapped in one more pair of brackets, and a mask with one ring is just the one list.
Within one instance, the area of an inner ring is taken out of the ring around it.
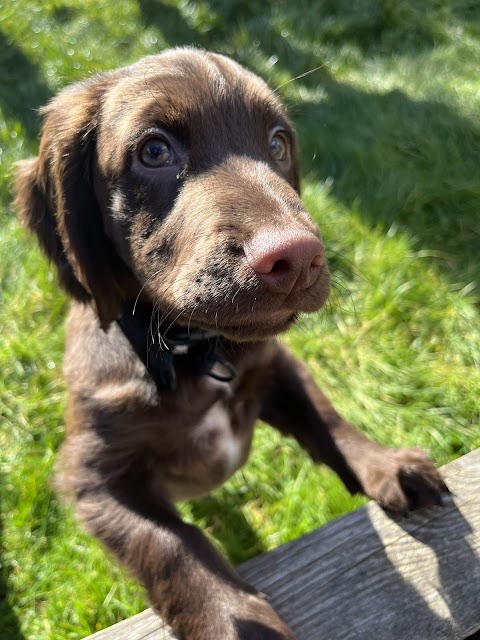
{"label": "brown puppy's whole head, including floppy ear and muzzle", "polygon": [[177,49],[64,90],[17,203],[108,326],[137,295],[169,322],[262,338],[329,288],[277,97],[223,56]]}

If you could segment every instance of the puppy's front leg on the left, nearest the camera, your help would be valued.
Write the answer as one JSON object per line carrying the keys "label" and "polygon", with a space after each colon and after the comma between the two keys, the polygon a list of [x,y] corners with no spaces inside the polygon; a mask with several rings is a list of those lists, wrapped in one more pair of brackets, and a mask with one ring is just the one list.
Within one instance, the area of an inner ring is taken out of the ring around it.
{"label": "puppy's front leg on the left, nearest the camera", "polygon": [[77,515],[147,589],[180,640],[295,640],[270,605],[196,527],[183,522],[145,458],[112,451],[92,433],[63,448],[63,490]]}

